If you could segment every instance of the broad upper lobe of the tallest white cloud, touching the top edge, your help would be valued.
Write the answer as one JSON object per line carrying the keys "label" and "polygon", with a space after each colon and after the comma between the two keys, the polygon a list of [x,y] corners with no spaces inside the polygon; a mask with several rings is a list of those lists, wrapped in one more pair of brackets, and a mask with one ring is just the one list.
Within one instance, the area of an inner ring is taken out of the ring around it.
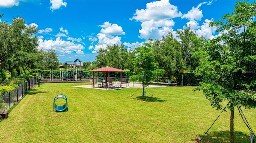
{"label": "broad upper lobe of the tallest white cloud, touching the top edge", "polygon": [[169,3],[169,0],[160,0],[146,4],[146,9],[136,10],[134,16],[130,20],[140,22],[148,20],[165,20],[182,16],[178,12],[178,7]]}

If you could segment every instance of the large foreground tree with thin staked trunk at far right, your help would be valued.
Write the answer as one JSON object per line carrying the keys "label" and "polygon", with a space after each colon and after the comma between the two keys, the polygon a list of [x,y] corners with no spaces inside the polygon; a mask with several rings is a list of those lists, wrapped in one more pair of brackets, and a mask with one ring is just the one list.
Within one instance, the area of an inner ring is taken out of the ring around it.
{"label": "large foreground tree with thin staked trunk at far right", "polygon": [[234,12],[212,22],[220,37],[209,41],[204,62],[196,74],[203,80],[202,90],[212,107],[220,110],[228,101],[230,109],[230,143],[234,143],[234,108],[256,107],[256,4],[237,2]]}

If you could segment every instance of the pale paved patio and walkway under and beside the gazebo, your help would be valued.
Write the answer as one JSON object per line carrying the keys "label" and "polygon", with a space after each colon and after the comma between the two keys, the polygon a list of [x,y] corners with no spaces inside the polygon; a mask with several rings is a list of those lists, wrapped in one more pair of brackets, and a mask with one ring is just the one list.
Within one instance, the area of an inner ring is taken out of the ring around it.
{"label": "pale paved patio and walkway under and beside the gazebo", "polygon": [[[116,85],[116,83],[114,83],[113,85]],[[101,89],[101,90],[106,90],[107,88],[105,87],[100,87],[98,86],[98,84],[94,84],[95,87],[92,87],[92,85],[78,85],[78,86],[74,86],[74,87],[82,87],[82,88],[94,88],[94,89]],[[152,88],[152,87],[165,87],[168,86],[167,83],[161,83],[161,84],[150,84],[147,88]],[[129,85],[127,84],[122,84],[122,88],[139,88],[139,87],[143,87],[143,85],[141,83],[129,83]],[[117,88],[115,88],[117,89]]]}

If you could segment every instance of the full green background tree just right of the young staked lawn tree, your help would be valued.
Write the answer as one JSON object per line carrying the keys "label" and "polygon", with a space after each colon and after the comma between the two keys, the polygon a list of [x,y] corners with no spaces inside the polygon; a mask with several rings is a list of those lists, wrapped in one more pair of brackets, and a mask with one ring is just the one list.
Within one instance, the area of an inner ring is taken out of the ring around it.
{"label": "full green background tree just right of the young staked lawn tree", "polygon": [[166,71],[165,76],[169,80],[172,75],[177,78],[178,73],[186,68],[180,43],[174,39],[172,33],[153,43],[153,53],[154,59],[159,63],[160,69]]}

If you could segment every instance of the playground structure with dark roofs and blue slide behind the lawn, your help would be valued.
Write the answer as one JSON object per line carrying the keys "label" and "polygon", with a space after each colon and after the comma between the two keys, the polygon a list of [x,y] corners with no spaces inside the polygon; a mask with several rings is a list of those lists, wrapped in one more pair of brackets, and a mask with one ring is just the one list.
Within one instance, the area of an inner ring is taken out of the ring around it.
{"label": "playground structure with dark roofs and blue slide behind the lawn", "polygon": [[[77,61],[79,61],[79,64],[76,64]],[[84,71],[81,70],[81,63],[82,61],[80,61],[80,59],[76,59],[75,61],[66,61],[65,69],[50,69],[50,81],[53,81],[53,71],[60,71],[60,78],[62,81],[77,81],[78,79],[81,80],[82,74],[85,74],[86,76],[92,79],[92,77],[89,74],[86,74]]]}

